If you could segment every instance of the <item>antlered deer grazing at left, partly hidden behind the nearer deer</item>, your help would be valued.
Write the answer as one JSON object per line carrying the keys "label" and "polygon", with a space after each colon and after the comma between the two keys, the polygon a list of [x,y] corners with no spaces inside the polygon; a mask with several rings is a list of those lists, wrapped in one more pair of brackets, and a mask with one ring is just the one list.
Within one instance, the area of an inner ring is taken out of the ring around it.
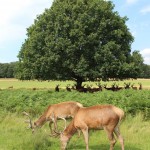
{"label": "antlered deer grazing at left, partly hidden behind the nearer deer", "polygon": [[[68,102],[62,102],[58,104],[49,105],[46,111],[35,121],[32,123],[31,117],[27,112],[23,112],[24,115],[26,115],[29,120],[25,121],[26,123],[29,123],[30,129],[32,129],[32,133],[34,133],[36,128],[41,128],[47,121],[49,121],[49,127],[51,134],[53,131],[57,130],[57,120],[62,119],[65,122],[66,128],[66,118],[73,118],[79,108],[83,107],[83,105],[79,102],[75,101],[68,101]],[[54,130],[52,130],[52,123],[54,123]]]}

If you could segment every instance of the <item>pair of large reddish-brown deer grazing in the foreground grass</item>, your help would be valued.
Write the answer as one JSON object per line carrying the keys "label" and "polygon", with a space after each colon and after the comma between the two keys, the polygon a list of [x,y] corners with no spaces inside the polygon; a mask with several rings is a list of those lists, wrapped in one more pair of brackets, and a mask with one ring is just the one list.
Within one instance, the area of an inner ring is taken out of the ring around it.
{"label": "pair of large reddish-brown deer grazing in the foreground grass", "polygon": [[[96,105],[83,107],[81,103],[68,101],[48,106],[46,111],[39,117],[37,121],[32,123],[31,117],[27,112],[23,112],[29,120],[29,128],[34,133],[36,128],[42,127],[44,123],[49,122],[49,127],[52,136],[59,136],[61,141],[61,150],[65,150],[68,141],[77,132],[82,131],[86,150],[89,150],[88,141],[90,129],[103,129],[106,131],[110,141],[110,150],[113,150],[116,143],[115,136],[119,139],[121,149],[124,150],[124,140],[120,134],[119,126],[124,118],[124,111],[113,105]],[[66,127],[66,119],[73,118],[70,124]],[[58,131],[57,120],[65,121],[63,131]],[[51,125],[54,124],[52,129]]]}

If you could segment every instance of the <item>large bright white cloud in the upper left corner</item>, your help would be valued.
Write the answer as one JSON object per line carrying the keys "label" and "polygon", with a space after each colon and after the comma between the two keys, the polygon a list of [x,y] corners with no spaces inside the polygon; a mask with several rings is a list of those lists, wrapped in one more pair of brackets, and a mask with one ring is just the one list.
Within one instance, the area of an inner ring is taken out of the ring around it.
{"label": "large bright white cloud in the upper left corner", "polygon": [[5,0],[0,2],[0,47],[9,40],[25,37],[26,28],[53,0]]}

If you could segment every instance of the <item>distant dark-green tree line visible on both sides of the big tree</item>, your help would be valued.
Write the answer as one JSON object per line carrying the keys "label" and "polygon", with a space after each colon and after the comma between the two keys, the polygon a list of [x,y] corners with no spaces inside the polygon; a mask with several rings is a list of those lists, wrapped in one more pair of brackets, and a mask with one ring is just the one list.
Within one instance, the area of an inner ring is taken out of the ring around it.
{"label": "distant dark-green tree line visible on both sides of the big tree", "polygon": [[[17,78],[17,63],[0,63],[0,78]],[[142,64],[140,70],[137,78],[150,78],[150,65]]]}

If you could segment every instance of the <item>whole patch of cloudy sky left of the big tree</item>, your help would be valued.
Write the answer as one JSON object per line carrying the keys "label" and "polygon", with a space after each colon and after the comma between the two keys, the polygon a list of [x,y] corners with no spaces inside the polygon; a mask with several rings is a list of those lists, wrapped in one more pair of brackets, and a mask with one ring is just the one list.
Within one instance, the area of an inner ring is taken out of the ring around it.
{"label": "whole patch of cloudy sky left of the big tree", "polygon": [[17,60],[17,54],[26,38],[26,28],[45,8],[49,8],[52,2],[53,0],[0,1],[1,63]]}

